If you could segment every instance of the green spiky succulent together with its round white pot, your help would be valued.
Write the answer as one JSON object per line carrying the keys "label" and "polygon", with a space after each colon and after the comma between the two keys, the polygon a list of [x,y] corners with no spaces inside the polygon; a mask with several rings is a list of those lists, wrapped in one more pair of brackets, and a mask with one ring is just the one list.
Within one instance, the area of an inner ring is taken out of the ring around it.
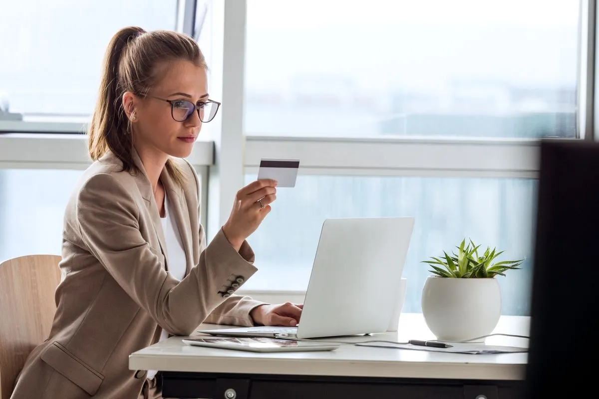
{"label": "green spiky succulent together with its round white pot", "polygon": [[[422,261],[432,267],[422,290],[422,314],[438,340],[459,342],[486,336],[501,316],[501,291],[496,276],[521,269],[523,260],[495,261],[504,251],[462,240],[458,253]],[[480,339],[478,341],[482,341]]]}

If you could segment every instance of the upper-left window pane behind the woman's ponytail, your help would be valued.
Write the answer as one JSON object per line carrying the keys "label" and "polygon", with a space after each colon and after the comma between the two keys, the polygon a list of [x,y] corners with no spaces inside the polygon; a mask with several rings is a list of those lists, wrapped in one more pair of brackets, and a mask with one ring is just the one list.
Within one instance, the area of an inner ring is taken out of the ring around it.
{"label": "upper-left window pane behind the woman's ponytail", "polygon": [[176,17],[177,0],[3,2],[0,108],[11,112],[4,119],[86,122],[114,33],[175,29]]}

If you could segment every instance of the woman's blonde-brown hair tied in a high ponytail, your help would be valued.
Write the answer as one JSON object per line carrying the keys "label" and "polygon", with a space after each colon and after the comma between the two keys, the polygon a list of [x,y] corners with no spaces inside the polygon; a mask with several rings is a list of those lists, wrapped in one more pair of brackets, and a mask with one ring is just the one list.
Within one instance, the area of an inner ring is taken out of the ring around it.
{"label": "woman's blonde-brown hair tied in a high ponytail", "polygon": [[[183,33],[172,31],[146,32],[137,26],[120,29],[108,44],[104,55],[98,100],[87,135],[87,148],[92,160],[112,151],[123,163],[123,170],[135,173],[133,139],[129,119],[123,109],[123,93],[146,96],[159,77],[159,63],[188,60],[207,68],[198,44]],[[182,185],[183,173],[172,159],[168,172]]]}

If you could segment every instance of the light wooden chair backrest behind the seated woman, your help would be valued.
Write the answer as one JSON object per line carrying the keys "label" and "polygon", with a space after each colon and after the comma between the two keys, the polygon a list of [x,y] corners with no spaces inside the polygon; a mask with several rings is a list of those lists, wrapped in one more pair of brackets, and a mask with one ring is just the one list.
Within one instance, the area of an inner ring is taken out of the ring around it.
{"label": "light wooden chair backrest behind the seated woman", "polygon": [[58,255],[28,255],[0,263],[0,399],[35,346],[50,334],[60,282]]}

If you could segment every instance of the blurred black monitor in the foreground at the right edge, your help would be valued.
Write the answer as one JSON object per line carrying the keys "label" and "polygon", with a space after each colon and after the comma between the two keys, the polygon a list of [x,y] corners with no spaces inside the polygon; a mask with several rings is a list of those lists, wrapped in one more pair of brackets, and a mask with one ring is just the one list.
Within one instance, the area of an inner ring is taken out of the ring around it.
{"label": "blurred black monitor in the foreground at the right edge", "polygon": [[597,395],[599,143],[541,141],[526,398]]}

